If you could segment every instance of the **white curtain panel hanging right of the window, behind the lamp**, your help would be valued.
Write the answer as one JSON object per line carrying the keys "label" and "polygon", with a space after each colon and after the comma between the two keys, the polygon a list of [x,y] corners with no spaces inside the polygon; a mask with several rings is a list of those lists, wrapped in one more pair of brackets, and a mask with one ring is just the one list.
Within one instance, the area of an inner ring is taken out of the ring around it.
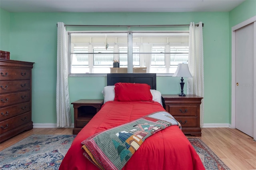
{"label": "white curtain panel hanging right of the window, behind the lamp", "polygon": [[[187,80],[187,94],[204,97],[204,51],[202,22],[189,26],[188,68],[192,78]],[[200,106],[200,126],[204,124],[204,99]]]}

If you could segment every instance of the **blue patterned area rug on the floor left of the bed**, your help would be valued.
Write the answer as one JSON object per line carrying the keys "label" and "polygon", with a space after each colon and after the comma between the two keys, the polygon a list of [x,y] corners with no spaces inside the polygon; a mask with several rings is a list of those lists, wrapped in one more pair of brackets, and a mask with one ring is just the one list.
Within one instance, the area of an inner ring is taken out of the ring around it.
{"label": "blue patterned area rug on the floor left of the bed", "polygon": [[0,170],[58,170],[75,137],[33,134],[0,152]]}

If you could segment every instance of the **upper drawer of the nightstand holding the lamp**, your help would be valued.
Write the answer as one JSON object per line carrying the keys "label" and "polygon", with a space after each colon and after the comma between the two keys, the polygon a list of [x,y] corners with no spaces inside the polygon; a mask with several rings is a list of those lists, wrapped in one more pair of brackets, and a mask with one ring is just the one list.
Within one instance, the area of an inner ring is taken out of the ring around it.
{"label": "upper drawer of the nightstand holding the lamp", "polygon": [[172,116],[196,116],[197,115],[197,106],[186,106],[186,105],[168,105],[169,113]]}

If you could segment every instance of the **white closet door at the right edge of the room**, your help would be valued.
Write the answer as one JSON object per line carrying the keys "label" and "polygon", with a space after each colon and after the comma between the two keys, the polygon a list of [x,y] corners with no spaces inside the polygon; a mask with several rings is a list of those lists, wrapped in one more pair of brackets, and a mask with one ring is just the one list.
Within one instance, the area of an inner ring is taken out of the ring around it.
{"label": "white closet door at the right edge of the room", "polygon": [[236,128],[254,134],[254,24],[236,30]]}

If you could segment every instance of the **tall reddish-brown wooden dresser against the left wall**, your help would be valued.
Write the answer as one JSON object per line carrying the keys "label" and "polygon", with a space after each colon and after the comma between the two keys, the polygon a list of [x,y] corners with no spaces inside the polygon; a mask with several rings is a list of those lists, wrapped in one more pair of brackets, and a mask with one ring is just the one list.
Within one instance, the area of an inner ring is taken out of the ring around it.
{"label": "tall reddish-brown wooden dresser against the left wall", "polygon": [[0,59],[0,142],[33,128],[32,62]]}

